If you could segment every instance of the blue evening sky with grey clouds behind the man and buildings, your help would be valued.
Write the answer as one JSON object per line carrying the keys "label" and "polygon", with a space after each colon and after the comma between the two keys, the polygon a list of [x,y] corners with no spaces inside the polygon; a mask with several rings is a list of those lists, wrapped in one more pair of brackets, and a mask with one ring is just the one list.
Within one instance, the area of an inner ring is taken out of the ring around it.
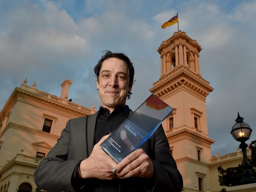
{"label": "blue evening sky with grey clouds behind the man and buildings", "polygon": [[123,52],[135,67],[127,104],[135,110],[160,78],[162,41],[177,25],[202,47],[202,78],[214,88],[206,98],[211,155],[235,152],[230,135],[237,111],[256,139],[256,1],[247,0],[1,0],[0,109],[15,87],[27,85],[60,96],[71,79],[69,98],[96,109],[100,99],[93,68],[102,51]]}

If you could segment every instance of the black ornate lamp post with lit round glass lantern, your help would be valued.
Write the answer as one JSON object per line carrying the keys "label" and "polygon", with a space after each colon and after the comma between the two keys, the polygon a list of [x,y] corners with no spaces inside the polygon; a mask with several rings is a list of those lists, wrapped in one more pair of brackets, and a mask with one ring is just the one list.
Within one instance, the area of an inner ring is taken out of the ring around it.
{"label": "black ornate lamp post with lit round glass lantern", "polygon": [[243,172],[243,179],[241,181],[241,185],[249,184],[249,183],[256,183],[256,179],[253,177],[252,172],[250,171],[251,165],[248,161],[247,157],[247,150],[246,148],[248,145],[245,143],[250,138],[252,133],[252,129],[250,126],[243,122],[243,117],[240,117],[239,112],[236,118],[236,124],[232,127],[231,135],[237,141],[241,142],[239,148],[243,151],[243,165],[242,168],[244,169]]}

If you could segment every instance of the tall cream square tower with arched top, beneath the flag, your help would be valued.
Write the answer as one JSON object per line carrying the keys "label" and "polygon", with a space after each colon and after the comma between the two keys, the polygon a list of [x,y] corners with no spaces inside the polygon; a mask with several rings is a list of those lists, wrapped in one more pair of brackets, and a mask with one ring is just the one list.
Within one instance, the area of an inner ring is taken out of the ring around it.
{"label": "tall cream square tower with arched top, beneath the flag", "polygon": [[163,122],[171,153],[177,163],[186,191],[207,191],[211,188],[206,96],[213,91],[200,74],[196,40],[185,32],[175,32],[163,41],[158,52],[161,76],[150,91],[174,108]]}

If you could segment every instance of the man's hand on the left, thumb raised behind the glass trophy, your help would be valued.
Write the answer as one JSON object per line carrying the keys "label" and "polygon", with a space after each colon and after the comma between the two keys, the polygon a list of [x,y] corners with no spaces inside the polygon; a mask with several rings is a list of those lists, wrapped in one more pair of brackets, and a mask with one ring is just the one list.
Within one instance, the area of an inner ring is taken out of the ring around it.
{"label": "man's hand on the left, thumb raised behind the glass trophy", "polygon": [[80,173],[83,178],[114,179],[112,172],[117,163],[107,155],[100,144],[108,137],[105,135],[93,147],[91,155],[80,164]]}

